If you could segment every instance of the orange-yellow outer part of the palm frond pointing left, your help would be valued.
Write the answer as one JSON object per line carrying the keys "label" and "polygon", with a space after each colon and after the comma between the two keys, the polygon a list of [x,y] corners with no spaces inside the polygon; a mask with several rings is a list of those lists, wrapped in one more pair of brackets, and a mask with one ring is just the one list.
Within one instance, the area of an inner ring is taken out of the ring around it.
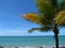
{"label": "orange-yellow outer part of the palm frond pointing left", "polygon": [[26,15],[23,15],[23,17],[25,19],[28,19],[28,20],[36,22],[36,23],[40,23],[40,21],[41,21],[41,16],[34,14],[34,13],[28,13]]}

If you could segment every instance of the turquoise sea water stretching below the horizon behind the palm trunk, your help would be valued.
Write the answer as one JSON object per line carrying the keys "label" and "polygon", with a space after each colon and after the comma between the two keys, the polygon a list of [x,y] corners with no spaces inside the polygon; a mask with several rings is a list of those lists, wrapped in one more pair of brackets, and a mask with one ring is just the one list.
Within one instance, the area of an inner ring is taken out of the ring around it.
{"label": "turquoise sea water stretching below the horizon behind the palm trunk", "polygon": [[[65,36],[60,36],[60,46],[65,46]],[[0,36],[1,46],[55,46],[54,36]]]}

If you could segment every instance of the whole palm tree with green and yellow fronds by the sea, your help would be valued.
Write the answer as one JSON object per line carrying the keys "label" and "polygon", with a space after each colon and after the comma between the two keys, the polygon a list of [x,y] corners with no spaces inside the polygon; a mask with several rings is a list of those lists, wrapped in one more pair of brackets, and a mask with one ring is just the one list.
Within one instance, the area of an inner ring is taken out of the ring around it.
{"label": "whole palm tree with green and yellow fronds by the sea", "polygon": [[23,17],[35,22],[41,28],[32,28],[29,32],[39,30],[41,32],[53,31],[55,36],[55,47],[58,48],[58,33],[65,26],[65,0],[36,0],[38,14],[28,13]]}

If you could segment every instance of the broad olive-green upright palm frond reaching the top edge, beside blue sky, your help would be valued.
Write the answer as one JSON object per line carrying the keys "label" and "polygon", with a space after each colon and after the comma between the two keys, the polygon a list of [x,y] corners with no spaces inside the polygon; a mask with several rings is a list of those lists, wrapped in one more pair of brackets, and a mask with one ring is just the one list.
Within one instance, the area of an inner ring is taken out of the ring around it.
{"label": "broad olive-green upright palm frond reaching the top edge, beside blue sky", "polygon": [[42,16],[50,21],[53,19],[54,9],[48,0],[37,0],[37,6]]}

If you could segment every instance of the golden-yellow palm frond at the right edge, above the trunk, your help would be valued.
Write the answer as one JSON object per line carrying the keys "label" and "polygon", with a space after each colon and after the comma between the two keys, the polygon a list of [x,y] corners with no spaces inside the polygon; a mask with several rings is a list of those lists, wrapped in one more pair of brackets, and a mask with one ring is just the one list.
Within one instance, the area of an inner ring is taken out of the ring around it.
{"label": "golden-yellow palm frond at the right edge, above the trunk", "polygon": [[54,18],[55,23],[57,25],[65,25],[65,11],[60,12],[55,18]]}

